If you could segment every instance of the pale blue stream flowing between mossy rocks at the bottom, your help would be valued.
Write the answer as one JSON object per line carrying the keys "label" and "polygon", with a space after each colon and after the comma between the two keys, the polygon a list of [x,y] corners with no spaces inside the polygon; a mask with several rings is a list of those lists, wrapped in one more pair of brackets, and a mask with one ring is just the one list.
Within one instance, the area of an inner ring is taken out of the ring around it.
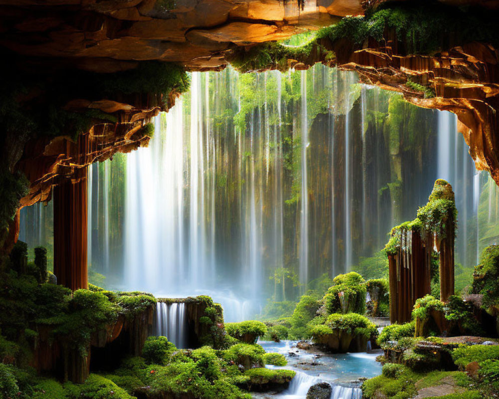
{"label": "pale blue stream flowing between mossy rocks at the bottom", "polygon": [[[260,341],[258,344],[266,352],[283,354],[288,361],[284,368],[296,372],[289,387],[283,392],[271,395],[272,398],[305,399],[312,385],[326,382],[332,387],[331,399],[360,399],[362,391],[359,388],[359,379],[381,374],[381,364],[376,362],[380,351],[332,355],[297,349],[296,341]],[[268,396],[268,393],[265,394],[265,397]]]}

